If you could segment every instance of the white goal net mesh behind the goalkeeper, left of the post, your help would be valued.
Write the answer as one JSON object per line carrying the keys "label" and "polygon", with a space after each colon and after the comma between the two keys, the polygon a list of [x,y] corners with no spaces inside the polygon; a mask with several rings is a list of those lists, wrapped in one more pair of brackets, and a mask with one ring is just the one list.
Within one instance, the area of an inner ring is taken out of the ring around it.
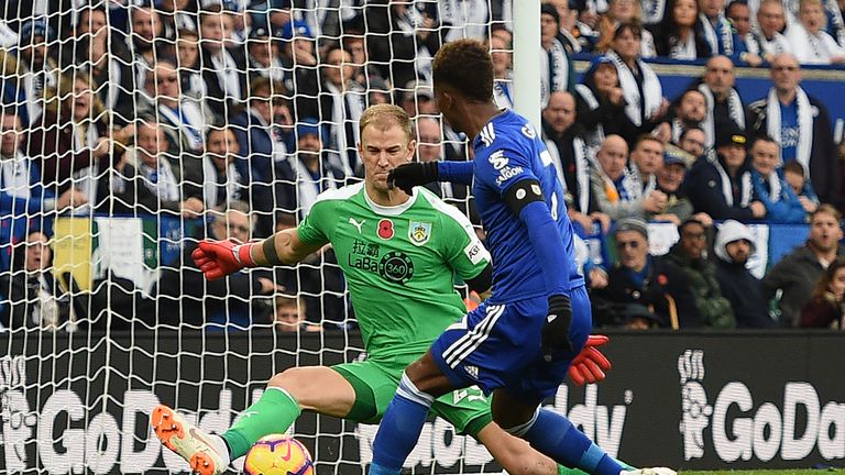
{"label": "white goal net mesh behind the goalkeeper, left of the post", "polygon": [[[276,372],[361,357],[330,248],[219,281],[190,253],[295,227],[319,191],[359,180],[367,106],[415,117],[420,158],[465,159],[432,101],[431,57],[509,29],[502,3],[4,2],[6,471],[187,471],[149,429],[158,401],[221,432]],[[438,191],[470,211],[468,190]],[[318,473],[361,473],[371,457],[375,426],[305,416],[292,430]],[[435,420],[408,466],[491,462]]]}

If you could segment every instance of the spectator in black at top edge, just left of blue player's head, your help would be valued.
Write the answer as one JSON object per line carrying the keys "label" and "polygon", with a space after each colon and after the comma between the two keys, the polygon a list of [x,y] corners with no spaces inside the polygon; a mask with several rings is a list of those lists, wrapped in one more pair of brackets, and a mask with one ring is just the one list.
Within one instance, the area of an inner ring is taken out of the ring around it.
{"label": "spectator in black at top edge, just left of blue player's head", "polygon": [[[418,77],[428,79],[429,62],[424,58],[437,54],[446,34],[432,13],[408,2],[367,2],[364,24],[369,57],[380,76],[389,78],[394,86]],[[418,65],[425,66],[418,69]]]}

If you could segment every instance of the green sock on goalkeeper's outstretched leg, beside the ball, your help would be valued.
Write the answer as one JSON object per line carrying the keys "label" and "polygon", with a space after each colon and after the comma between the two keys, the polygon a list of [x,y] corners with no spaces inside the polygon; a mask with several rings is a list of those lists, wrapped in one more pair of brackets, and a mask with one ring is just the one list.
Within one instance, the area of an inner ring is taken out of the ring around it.
{"label": "green sock on goalkeeper's outstretched leg, beside the ball", "polygon": [[300,413],[299,402],[286,390],[267,387],[261,398],[221,435],[229,445],[231,460],[245,455],[264,435],[285,433]]}

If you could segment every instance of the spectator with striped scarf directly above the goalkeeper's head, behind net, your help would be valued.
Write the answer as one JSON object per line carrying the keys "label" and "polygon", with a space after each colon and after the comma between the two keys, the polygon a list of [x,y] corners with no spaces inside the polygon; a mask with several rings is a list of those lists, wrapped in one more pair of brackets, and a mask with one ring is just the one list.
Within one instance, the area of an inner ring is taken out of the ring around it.
{"label": "spectator with striped scarf directly above the goalkeeper's head, behind net", "polygon": [[318,100],[320,122],[328,132],[325,146],[345,176],[363,176],[356,145],[360,142],[358,121],[366,107],[366,91],[355,82],[354,71],[352,55],[340,47],[329,51],[320,65],[322,87]]}

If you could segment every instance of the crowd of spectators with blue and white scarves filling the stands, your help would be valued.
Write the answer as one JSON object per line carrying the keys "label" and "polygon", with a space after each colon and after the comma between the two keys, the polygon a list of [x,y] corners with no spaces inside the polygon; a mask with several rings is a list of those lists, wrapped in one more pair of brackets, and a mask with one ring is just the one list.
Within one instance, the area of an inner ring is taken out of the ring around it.
{"label": "crowd of spectators with blue and white scarves filling the stands", "polygon": [[[513,106],[515,0],[55,3],[7,5],[0,21],[0,328],[105,324],[90,314],[101,296],[74,303],[73,276],[45,264],[59,213],[200,223],[179,258],[160,263],[154,302],[128,299],[129,313],[152,305],[157,319],[128,324],[345,328],[352,310],[330,248],[297,268],[213,284],[190,252],[204,238],[245,242],[294,227],[319,192],[360,179],[358,119],[371,104],[411,115],[418,159],[468,159],[431,90],[431,57],[446,42],[486,42],[495,100]],[[845,62],[843,8],[542,4],[541,133],[579,233],[615,243],[616,262],[583,263],[596,324],[839,324],[843,175],[824,98],[801,88],[801,68]],[[584,54],[579,78],[573,55]],[[705,71],[666,97],[644,60],[655,56],[706,59]],[[739,93],[738,65],[768,68],[765,97]],[[474,214],[467,187],[431,189]],[[678,228],[666,256],[649,254],[649,221]],[[758,280],[746,269],[748,222],[810,223],[810,238]]]}

